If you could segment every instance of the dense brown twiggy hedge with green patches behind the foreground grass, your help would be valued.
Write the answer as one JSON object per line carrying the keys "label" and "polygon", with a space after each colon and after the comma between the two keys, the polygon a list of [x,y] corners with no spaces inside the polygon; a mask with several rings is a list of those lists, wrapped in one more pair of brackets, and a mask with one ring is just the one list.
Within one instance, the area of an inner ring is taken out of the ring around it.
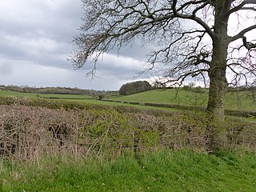
{"label": "dense brown twiggy hedge with green patches behind the foreground grass", "polygon": [[[0,157],[36,161],[41,154],[117,156],[168,148],[206,151],[207,118],[126,106],[5,98],[0,100]],[[46,107],[38,107],[42,105]],[[227,149],[256,150],[256,125],[227,120]]]}

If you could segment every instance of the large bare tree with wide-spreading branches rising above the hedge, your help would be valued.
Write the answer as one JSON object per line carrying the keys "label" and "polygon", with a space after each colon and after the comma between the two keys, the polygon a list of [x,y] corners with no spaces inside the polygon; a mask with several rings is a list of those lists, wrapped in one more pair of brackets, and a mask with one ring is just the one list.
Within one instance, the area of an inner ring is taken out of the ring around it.
{"label": "large bare tree with wide-spreading branches rising above the hedge", "polygon": [[[74,38],[71,61],[84,66],[134,41],[154,43],[147,70],[158,70],[166,82],[181,84],[201,77],[209,85],[207,110],[224,121],[228,83],[255,78],[256,0],[82,0],[85,10]],[[236,21],[236,27],[232,22]],[[248,22],[251,21],[251,22]],[[226,74],[233,76],[227,81]]]}

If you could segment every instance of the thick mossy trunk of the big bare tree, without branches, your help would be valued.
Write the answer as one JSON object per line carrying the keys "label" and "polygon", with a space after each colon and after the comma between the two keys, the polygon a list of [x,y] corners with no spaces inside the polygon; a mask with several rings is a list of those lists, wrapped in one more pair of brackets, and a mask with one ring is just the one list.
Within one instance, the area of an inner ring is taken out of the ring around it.
{"label": "thick mossy trunk of the big bare tree, without branches", "polygon": [[230,2],[215,1],[215,20],[214,20],[214,38],[213,54],[208,75],[210,78],[209,99],[207,110],[209,114],[209,125],[207,129],[207,138],[209,149],[214,150],[226,142],[226,130],[222,130],[222,122],[225,120],[224,100],[226,94],[226,58],[228,49],[226,13],[230,10]]}

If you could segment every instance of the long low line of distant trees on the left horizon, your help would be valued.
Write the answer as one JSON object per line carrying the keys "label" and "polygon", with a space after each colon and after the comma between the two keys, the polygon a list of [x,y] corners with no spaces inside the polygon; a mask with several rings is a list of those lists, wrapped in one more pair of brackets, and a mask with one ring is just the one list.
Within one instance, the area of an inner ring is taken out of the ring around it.
{"label": "long low line of distant trees on the left horizon", "polygon": [[0,86],[0,90],[12,90],[22,93],[34,93],[34,94],[80,94],[90,95],[92,97],[99,97],[100,95],[114,95],[118,94],[118,91],[106,91],[106,90],[82,90],[79,88],[70,87],[30,87],[30,86]]}

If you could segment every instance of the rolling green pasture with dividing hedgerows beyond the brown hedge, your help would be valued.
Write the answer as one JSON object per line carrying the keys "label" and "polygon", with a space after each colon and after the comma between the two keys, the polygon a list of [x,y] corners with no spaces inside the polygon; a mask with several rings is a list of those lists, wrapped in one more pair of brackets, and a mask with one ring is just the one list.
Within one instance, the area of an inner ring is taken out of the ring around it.
{"label": "rolling green pasture with dividing hedgerows beyond the brown hedge", "polygon": [[[193,90],[149,90],[128,96],[115,95],[108,96],[102,100],[93,98],[90,95],[79,94],[32,94],[21,93],[10,90],[0,90],[0,96],[38,99],[50,99],[59,102],[100,105],[100,106],[128,106],[142,110],[163,110],[167,112],[197,110],[198,107],[206,107],[206,89],[200,91]],[[49,100],[49,101],[50,101]],[[151,105],[150,103],[153,103]],[[40,104],[38,104],[40,106]],[[69,104],[67,104],[69,105]],[[254,94],[250,91],[230,91],[226,94],[226,114],[228,116],[242,118],[249,122],[256,122],[256,102]]]}

